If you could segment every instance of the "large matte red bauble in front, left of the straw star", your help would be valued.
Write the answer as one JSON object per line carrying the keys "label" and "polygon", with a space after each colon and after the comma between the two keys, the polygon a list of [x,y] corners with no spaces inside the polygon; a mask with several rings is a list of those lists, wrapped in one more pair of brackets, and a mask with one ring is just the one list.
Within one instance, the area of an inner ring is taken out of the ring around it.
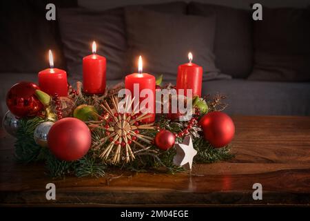
{"label": "large matte red bauble in front, left of the straw star", "polygon": [[60,160],[79,160],[87,153],[91,144],[90,129],[77,118],[60,119],[48,132],[48,147]]}

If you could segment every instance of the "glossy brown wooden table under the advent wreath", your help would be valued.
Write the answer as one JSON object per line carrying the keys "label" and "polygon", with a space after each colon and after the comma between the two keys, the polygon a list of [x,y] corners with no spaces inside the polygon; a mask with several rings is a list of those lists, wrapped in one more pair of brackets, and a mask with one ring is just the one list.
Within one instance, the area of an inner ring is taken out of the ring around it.
{"label": "glossy brown wooden table under the advent wreath", "polygon": [[[236,116],[229,162],[194,165],[192,175],[128,173],[52,180],[42,164],[17,164],[14,139],[1,131],[0,204],[54,206],[309,205],[310,117]],[[45,185],[56,185],[46,200]],[[254,200],[254,183],[262,200]]]}

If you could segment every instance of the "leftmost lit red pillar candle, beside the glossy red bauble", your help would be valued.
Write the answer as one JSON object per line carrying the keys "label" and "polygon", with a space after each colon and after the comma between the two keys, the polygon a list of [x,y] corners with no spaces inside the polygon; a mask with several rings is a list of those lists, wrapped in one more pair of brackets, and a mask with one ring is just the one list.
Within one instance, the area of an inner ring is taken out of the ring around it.
{"label": "leftmost lit red pillar candle, beside the glossy red bauble", "polygon": [[50,68],[41,70],[38,74],[39,87],[45,93],[54,95],[57,93],[61,97],[68,96],[68,81],[65,70],[54,68],[52,51],[48,51],[50,59]]}

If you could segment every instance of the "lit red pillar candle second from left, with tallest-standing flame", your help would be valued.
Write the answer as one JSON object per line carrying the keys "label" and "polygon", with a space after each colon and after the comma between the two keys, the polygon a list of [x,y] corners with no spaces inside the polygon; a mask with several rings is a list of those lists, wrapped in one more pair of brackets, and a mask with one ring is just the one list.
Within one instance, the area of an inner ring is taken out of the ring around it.
{"label": "lit red pillar candle second from left, with tallest-standing flame", "polygon": [[88,94],[105,93],[106,59],[96,55],[96,43],[92,43],[92,55],[83,58],[83,91]]}

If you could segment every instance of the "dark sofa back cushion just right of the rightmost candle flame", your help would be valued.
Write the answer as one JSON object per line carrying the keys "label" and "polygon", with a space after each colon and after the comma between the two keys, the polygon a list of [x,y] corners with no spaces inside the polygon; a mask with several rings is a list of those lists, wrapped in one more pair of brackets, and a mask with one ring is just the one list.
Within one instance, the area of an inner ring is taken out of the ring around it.
{"label": "dark sofa back cushion just right of the rightmost candle flame", "polygon": [[196,2],[189,3],[188,10],[190,15],[216,15],[216,66],[232,77],[248,77],[254,54],[250,12]]}

